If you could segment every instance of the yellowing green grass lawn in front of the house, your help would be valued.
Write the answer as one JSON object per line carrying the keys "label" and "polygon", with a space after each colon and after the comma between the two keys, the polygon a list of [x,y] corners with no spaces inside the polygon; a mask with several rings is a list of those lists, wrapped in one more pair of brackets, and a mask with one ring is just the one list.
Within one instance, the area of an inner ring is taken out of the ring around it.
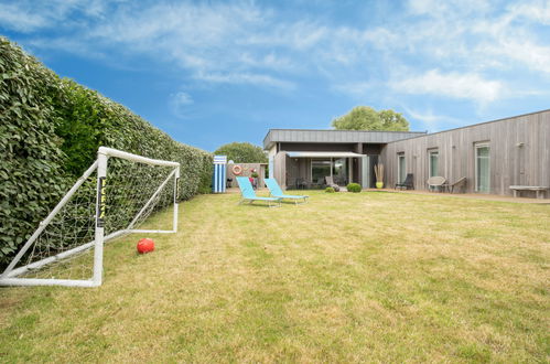
{"label": "yellowing green grass lawn in front of the house", "polygon": [[202,195],[98,289],[0,289],[0,362],[550,360],[549,205],[310,194]]}

